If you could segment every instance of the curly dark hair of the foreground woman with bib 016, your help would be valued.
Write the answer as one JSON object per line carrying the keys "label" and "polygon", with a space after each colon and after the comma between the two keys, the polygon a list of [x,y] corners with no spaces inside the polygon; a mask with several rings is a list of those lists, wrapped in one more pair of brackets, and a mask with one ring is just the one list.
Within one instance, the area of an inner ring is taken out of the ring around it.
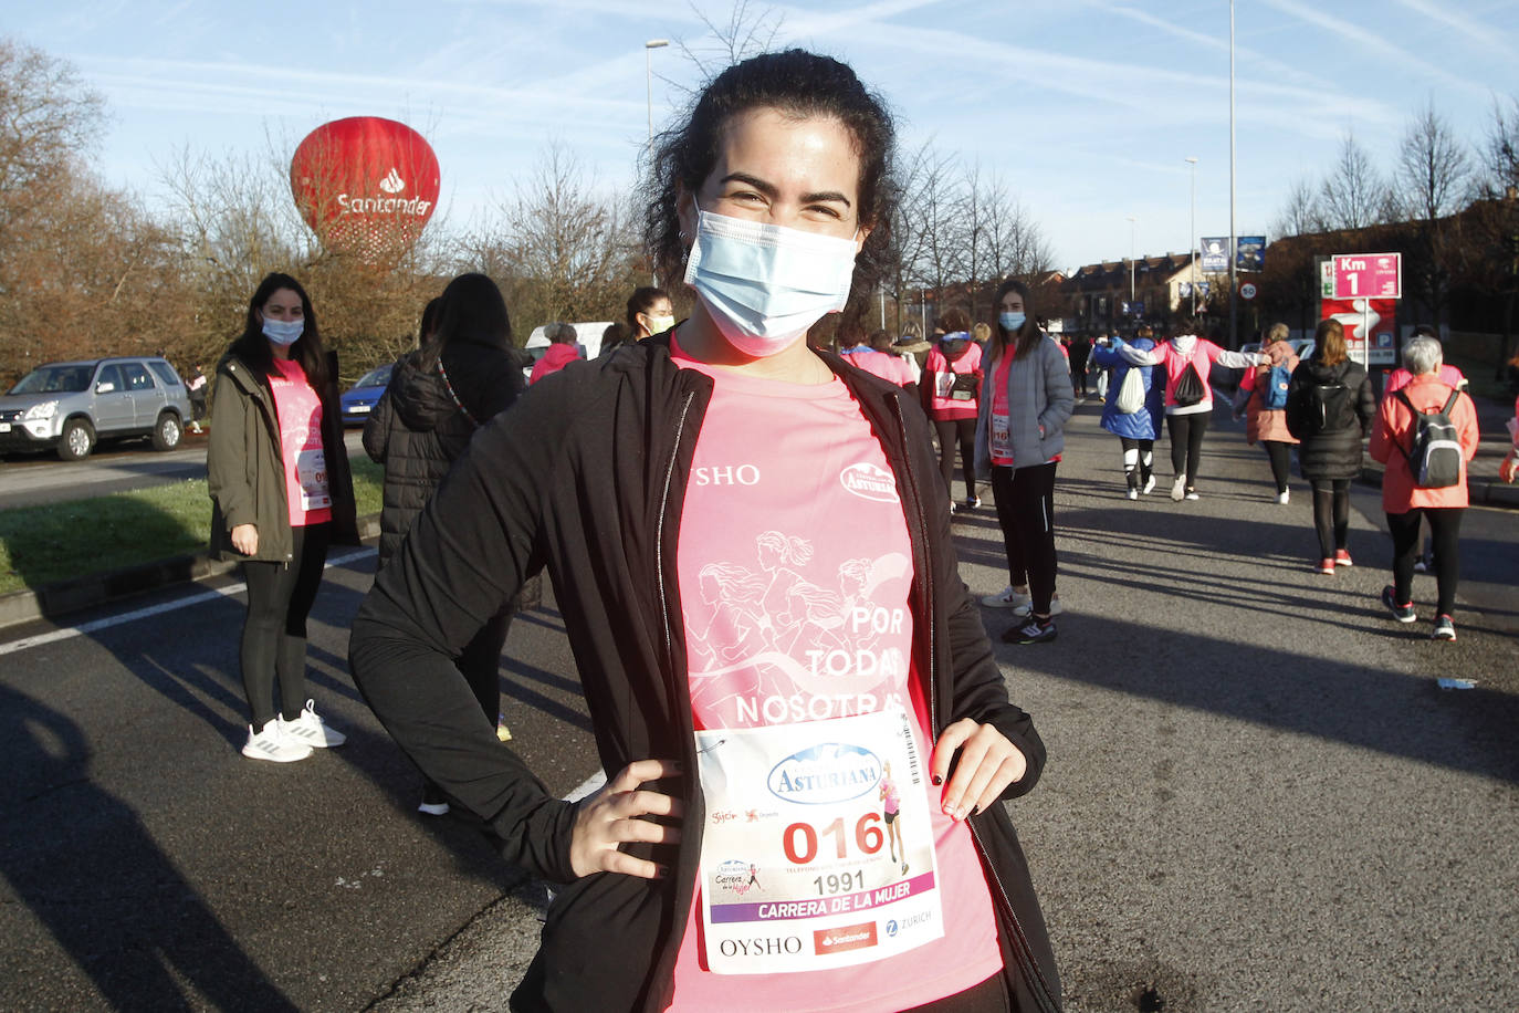
{"label": "curly dark hair of the foreground woman with bib 016", "polygon": [[702,90],[682,126],[659,135],[644,185],[644,243],[659,276],[668,282],[684,275],[690,243],[681,238],[681,194],[702,188],[717,164],[723,128],[755,108],[797,118],[831,117],[854,138],[860,156],[858,216],[870,235],[855,258],[851,299],[864,298],[884,275],[892,246],[896,128],[886,102],[848,64],[801,49],[734,64]]}

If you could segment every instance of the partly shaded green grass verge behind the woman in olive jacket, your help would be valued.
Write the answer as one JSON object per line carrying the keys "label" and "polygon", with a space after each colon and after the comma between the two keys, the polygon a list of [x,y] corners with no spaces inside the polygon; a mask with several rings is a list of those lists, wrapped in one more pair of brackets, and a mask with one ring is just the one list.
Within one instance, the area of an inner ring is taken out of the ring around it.
{"label": "partly shaded green grass verge behind the woman in olive jacket", "polygon": [[[378,513],[384,469],[352,459],[358,515]],[[207,547],[205,478],[0,510],[0,594],[149,563]]]}

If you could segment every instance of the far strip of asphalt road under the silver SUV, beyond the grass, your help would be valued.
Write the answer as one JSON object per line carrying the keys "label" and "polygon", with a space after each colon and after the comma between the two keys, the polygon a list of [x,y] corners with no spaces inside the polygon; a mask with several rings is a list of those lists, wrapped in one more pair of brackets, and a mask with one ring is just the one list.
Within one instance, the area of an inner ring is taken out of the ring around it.
{"label": "far strip of asphalt road under the silver SUV, beyond the grass", "polygon": [[[349,454],[363,453],[362,433],[348,430]],[[55,454],[9,454],[0,463],[0,510],[205,478],[205,436],[185,431],[184,443],[167,451],[155,451],[147,440],[105,443],[74,462]]]}

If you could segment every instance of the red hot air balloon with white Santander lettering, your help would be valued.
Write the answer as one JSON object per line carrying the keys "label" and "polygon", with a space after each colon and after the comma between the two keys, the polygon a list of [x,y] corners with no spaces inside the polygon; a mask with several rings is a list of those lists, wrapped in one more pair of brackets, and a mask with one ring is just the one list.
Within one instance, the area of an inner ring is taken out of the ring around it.
{"label": "red hot air balloon with white Santander lettering", "polygon": [[296,207],[322,246],[368,264],[404,254],[437,207],[437,156],[406,123],[355,115],[324,123],[290,159]]}

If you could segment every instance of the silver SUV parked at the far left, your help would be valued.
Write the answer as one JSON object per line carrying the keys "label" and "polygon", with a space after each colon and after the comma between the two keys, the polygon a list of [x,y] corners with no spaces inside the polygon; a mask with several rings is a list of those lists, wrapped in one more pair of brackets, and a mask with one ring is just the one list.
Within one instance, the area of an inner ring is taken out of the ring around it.
{"label": "silver SUV parked at the far left", "polygon": [[82,460],[97,440],[141,436],[173,450],[187,418],[190,392],[164,358],[47,363],[0,396],[0,451],[56,450]]}

